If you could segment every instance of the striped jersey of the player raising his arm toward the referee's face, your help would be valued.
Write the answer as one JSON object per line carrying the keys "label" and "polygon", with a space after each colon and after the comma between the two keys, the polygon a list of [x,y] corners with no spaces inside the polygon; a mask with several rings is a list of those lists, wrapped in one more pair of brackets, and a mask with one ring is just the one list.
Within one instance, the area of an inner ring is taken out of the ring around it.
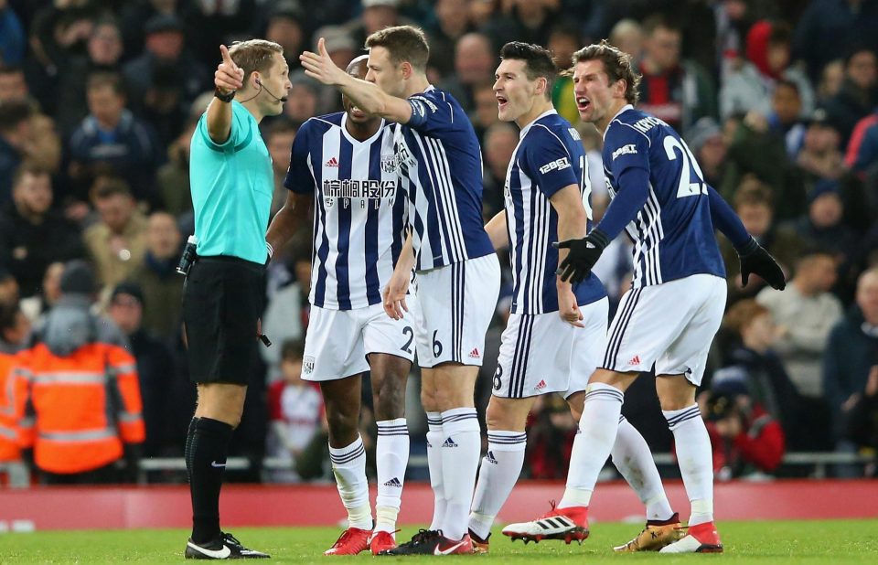
{"label": "striped jersey of the player raising his arm toward the referee's face", "polygon": [[396,126],[395,142],[415,271],[493,253],[482,219],[482,152],[466,112],[432,86],[408,101],[412,118]]}

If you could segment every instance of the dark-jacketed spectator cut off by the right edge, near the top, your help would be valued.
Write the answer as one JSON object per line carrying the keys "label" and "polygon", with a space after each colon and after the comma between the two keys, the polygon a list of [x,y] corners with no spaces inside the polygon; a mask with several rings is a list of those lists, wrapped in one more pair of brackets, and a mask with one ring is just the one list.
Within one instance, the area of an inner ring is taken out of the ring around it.
{"label": "dark-jacketed spectator cut off by the right edge, near the top", "polygon": [[842,146],[847,146],[853,128],[872,112],[878,84],[878,64],[875,51],[857,49],[844,59],[844,80],[841,90],[823,105],[833,123],[839,126]]}

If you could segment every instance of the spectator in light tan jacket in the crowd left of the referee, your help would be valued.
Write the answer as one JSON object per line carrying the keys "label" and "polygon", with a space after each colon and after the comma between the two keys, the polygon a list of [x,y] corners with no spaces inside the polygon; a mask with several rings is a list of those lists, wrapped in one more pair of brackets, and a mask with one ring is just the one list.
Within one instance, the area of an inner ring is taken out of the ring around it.
{"label": "spectator in light tan jacket in the crowd left of the referee", "polygon": [[99,177],[92,201],[100,219],[85,230],[82,240],[97,269],[98,282],[109,292],[143,263],[146,219],[121,178]]}

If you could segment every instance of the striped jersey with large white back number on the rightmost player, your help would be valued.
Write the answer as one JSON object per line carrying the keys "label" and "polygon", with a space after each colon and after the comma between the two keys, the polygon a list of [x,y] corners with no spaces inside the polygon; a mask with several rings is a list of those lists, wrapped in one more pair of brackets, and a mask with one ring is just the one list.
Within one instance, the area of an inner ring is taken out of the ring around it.
{"label": "striped jersey with large white back number on the rightmost player", "polygon": [[633,288],[697,273],[725,277],[701,167],[667,123],[626,105],[604,133],[611,197],[620,190],[616,179],[629,167],[649,176],[647,203],[626,226],[634,241]]}

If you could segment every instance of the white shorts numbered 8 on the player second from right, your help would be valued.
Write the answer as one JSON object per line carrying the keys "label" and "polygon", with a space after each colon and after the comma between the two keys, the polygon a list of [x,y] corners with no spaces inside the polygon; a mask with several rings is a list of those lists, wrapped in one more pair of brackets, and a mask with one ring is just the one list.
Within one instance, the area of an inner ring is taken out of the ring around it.
{"label": "white shorts numbered 8 on the player second from right", "polygon": [[567,398],[584,390],[604,354],[608,309],[606,298],[582,306],[584,328],[564,322],[557,312],[510,314],[500,341],[494,396],[523,399],[562,392]]}

